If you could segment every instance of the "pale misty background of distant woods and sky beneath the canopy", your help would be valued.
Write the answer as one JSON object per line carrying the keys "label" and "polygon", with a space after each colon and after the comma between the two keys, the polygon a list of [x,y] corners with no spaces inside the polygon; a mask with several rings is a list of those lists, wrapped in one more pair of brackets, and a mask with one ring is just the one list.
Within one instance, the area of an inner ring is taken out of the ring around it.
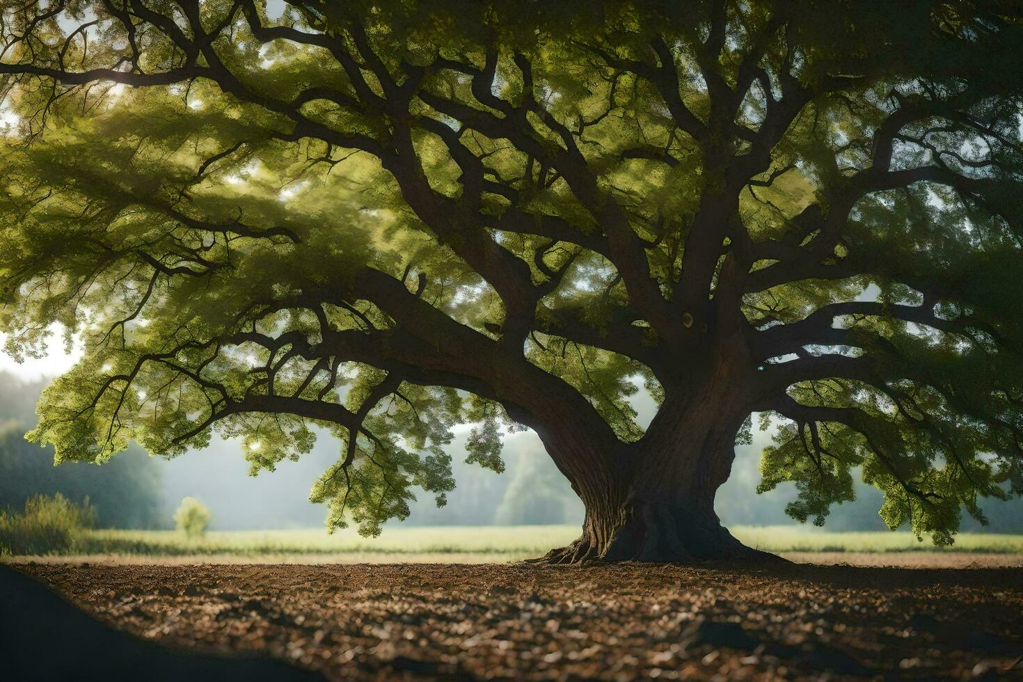
{"label": "pale misty background of distant woods and sky beneath the canopy", "polygon": [[[2,343],[0,338],[0,343]],[[66,369],[77,353],[51,348],[49,357],[16,364],[0,353],[0,508],[20,507],[32,493],[61,492],[75,500],[86,495],[97,507],[102,526],[169,528],[181,498],[198,498],[213,511],[214,530],[322,527],[325,509],[308,501],[309,489],[339,455],[338,442],[322,436],[311,453],[298,462],[282,461],[277,470],[249,475],[238,444],[214,440],[211,447],[172,460],[149,457],[137,446],[102,466],[63,464],[54,467],[52,452],[24,439],[35,423],[35,403],[46,377]],[[653,403],[637,396],[640,422],[653,415]],[[756,420],[754,420],[756,423]],[[583,510],[568,482],[554,467],[532,431],[511,434],[504,441],[506,471],[496,474],[464,462],[469,426],[454,429],[448,452],[453,458],[457,488],[446,507],[438,509],[430,495],[412,505],[407,525],[490,526],[519,524],[581,524]],[[731,478],[720,489],[716,507],[728,525],[795,524],[785,505],[795,498],[791,484],[756,494],[760,450],[769,434],[754,431],[753,444],[736,451]],[[859,485],[855,502],[834,508],[827,529],[883,530],[878,516],[881,494]],[[988,501],[989,532],[1023,532],[1023,500]],[[964,530],[979,530],[966,519]]]}

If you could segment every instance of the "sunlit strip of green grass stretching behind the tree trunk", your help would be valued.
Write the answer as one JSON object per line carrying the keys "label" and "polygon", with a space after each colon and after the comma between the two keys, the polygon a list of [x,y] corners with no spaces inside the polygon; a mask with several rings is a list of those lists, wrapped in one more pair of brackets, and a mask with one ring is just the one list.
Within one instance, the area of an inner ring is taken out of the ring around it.
{"label": "sunlit strip of green grass stretching behind the tree trunk", "polygon": [[[929,541],[909,533],[833,533],[791,526],[738,527],[744,543],[771,552],[905,552],[935,551]],[[516,560],[540,556],[579,535],[575,526],[398,527],[379,538],[361,538],[354,531],[327,535],[322,530],[211,532],[188,540],[175,531],[89,531],[76,554],[187,555],[486,555]],[[1023,535],[964,534],[945,551],[1023,553]]]}

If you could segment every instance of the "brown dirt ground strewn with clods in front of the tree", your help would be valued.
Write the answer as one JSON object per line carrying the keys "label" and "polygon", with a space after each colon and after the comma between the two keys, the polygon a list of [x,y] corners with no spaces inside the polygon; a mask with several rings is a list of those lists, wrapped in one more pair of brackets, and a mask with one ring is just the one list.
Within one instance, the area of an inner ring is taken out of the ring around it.
{"label": "brown dirt ground strewn with clods in front of the tree", "polygon": [[1018,567],[16,567],[143,637],[330,680],[1023,679]]}

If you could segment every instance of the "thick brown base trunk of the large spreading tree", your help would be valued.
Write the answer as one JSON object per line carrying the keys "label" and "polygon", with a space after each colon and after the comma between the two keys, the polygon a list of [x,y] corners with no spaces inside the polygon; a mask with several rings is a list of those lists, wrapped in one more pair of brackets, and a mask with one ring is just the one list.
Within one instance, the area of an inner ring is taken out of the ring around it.
{"label": "thick brown base trunk of the large spreading tree", "polygon": [[[582,536],[538,561],[784,561],[739,542],[714,511],[717,489],[735,459],[735,437],[748,413],[747,385],[730,363],[709,363],[706,390],[665,404],[636,448],[605,465],[573,466],[571,453],[551,452],[586,508]],[[545,438],[548,450],[567,439]]]}

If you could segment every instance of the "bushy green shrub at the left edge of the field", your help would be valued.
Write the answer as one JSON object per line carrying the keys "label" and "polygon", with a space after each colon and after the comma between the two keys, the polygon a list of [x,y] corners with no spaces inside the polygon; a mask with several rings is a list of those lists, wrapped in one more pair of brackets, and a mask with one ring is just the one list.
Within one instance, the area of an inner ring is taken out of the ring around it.
{"label": "bushy green shrub at the left edge of the field", "polygon": [[0,554],[66,553],[96,520],[88,498],[75,504],[60,493],[34,495],[25,511],[0,511]]}

